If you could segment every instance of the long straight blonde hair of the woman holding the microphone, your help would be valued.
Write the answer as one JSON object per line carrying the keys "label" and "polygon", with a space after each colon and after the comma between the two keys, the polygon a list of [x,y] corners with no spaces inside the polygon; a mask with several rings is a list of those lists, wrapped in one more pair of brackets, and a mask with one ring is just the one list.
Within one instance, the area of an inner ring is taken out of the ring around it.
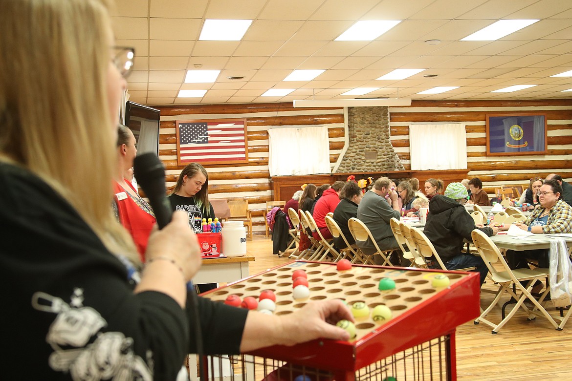
{"label": "long straight blonde hair of the woman holding the microphone", "polygon": [[117,126],[108,105],[108,7],[0,1],[0,159],[49,183],[110,251],[137,263],[110,207]]}

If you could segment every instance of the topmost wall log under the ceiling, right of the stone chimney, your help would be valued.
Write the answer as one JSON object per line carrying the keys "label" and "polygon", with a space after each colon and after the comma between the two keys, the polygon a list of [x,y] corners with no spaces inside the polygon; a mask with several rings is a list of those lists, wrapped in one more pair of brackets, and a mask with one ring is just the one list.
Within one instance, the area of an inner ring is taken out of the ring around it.
{"label": "topmost wall log under the ceiling, right of the stone chimney", "polygon": [[494,99],[475,101],[428,101],[414,99],[408,107],[545,107],[572,106],[572,99]]}

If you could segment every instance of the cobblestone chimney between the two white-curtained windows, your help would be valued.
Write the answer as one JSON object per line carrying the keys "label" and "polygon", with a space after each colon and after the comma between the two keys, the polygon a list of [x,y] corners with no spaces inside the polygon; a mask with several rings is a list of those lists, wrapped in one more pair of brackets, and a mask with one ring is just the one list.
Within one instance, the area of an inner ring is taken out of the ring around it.
{"label": "cobblestone chimney between the two white-curtained windows", "polygon": [[387,106],[348,107],[349,146],[337,172],[404,171],[390,141]]}

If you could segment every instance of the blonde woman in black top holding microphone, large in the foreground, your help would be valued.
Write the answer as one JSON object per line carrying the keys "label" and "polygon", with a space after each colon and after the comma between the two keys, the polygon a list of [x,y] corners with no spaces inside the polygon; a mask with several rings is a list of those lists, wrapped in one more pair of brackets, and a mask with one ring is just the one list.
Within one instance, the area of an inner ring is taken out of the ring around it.
{"label": "blonde woman in black top holding microphone, large in the foreground", "polygon": [[208,354],[349,339],[324,321],[353,320],[339,300],[269,316],[198,298],[194,320],[186,283],[201,259],[184,212],[152,232],[131,286],[124,263],[141,261],[110,207],[131,66],[107,4],[0,1],[3,378],[174,380],[200,323]]}

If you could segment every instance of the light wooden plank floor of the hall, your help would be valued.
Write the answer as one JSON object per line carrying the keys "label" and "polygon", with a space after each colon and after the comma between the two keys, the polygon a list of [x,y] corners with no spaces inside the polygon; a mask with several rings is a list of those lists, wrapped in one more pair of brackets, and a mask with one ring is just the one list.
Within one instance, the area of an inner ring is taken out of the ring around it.
{"label": "light wooden plank floor of the hall", "polygon": [[[272,255],[270,238],[255,236],[247,240],[249,255],[256,256],[250,263],[250,273],[258,274],[291,259]],[[487,283],[483,287],[488,286]],[[481,296],[486,308],[492,294]],[[492,321],[501,320],[495,308]],[[572,319],[570,319],[572,320]],[[472,320],[460,326],[456,335],[457,375],[461,381],[492,380],[570,380],[572,379],[572,322],[563,331],[556,331],[542,318],[529,321],[517,312],[502,330],[491,334],[491,328]]]}

